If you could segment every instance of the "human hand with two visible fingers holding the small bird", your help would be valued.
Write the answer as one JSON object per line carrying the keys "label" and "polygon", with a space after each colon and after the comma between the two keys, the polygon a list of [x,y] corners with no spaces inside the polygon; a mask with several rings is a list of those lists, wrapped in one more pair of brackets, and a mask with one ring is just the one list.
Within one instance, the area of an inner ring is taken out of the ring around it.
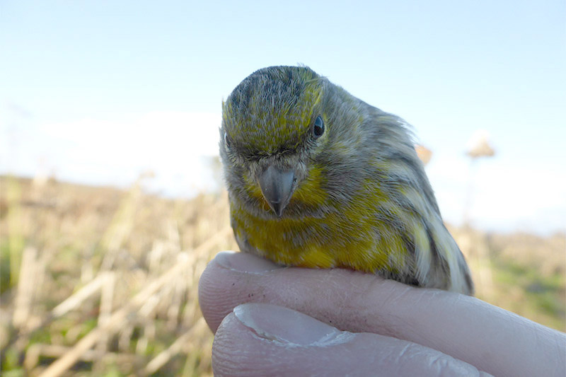
{"label": "human hand with two visible fingers holding the small bird", "polygon": [[220,376],[566,374],[562,332],[477,298],[372,274],[219,253],[199,296]]}

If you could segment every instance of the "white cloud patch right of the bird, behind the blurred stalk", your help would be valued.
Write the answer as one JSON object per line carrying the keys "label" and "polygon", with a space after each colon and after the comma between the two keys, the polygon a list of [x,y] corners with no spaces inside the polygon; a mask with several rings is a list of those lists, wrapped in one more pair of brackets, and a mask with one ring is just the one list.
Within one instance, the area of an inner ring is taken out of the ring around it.
{"label": "white cloud patch right of the bird, behind the blurred stalk", "polygon": [[[483,229],[537,233],[566,231],[566,171],[558,166],[518,166],[505,159],[446,158],[427,169],[444,219],[468,219]],[[468,194],[471,192],[471,194]]]}

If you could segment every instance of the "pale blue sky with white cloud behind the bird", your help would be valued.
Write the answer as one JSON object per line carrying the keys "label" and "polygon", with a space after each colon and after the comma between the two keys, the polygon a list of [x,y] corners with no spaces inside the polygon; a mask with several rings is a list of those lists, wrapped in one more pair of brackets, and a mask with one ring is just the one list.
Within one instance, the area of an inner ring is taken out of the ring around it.
{"label": "pale blue sky with white cloud behind the bird", "polygon": [[4,0],[0,173],[127,187],[151,169],[149,190],[191,195],[210,187],[221,99],[300,63],[415,127],[448,221],[485,129],[473,224],[564,229],[565,4]]}

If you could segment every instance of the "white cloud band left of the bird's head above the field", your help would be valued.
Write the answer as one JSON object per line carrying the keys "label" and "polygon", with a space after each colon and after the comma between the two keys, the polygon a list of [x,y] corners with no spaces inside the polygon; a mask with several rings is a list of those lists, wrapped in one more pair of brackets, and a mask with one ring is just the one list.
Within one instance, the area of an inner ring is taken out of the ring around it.
{"label": "white cloud band left of the bird's head above the field", "polygon": [[151,171],[151,190],[187,196],[217,186],[210,164],[220,122],[219,114],[148,112],[12,127],[18,161],[3,159],[0,170],[122,187]]}

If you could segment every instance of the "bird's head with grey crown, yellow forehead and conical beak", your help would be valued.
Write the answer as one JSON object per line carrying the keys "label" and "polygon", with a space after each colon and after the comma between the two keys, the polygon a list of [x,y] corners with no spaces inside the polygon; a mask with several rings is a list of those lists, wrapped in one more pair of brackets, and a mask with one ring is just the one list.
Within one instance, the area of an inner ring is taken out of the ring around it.
{"label": "bird's head with grey crown, yellow forehead and conical beak", "polygon": [[272,66],[244,79],[223,103],[225,179],[248,209],[281,217],[325,199],[317,161],[333,137],[330,86],[307,67]]}

